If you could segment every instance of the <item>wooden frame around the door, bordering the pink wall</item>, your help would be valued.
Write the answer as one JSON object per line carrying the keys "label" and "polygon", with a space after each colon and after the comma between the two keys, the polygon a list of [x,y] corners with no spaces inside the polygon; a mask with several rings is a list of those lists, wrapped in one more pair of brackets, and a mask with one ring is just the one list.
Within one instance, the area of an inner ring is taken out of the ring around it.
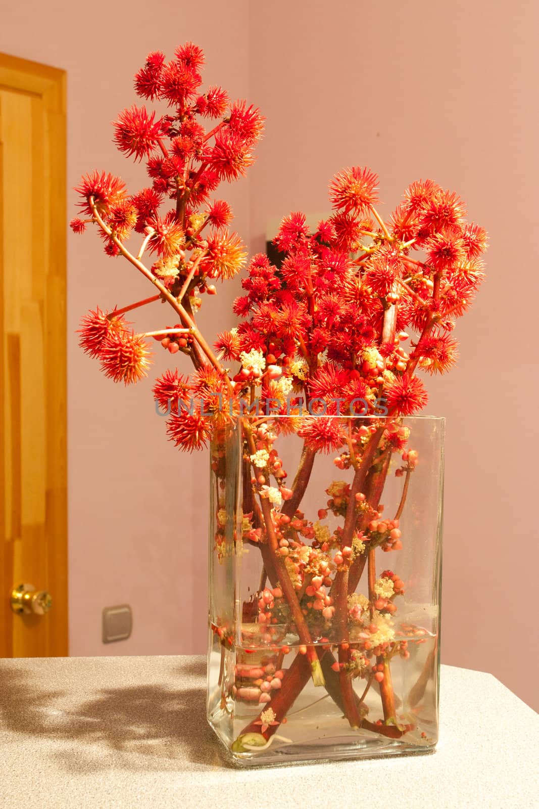
{"label": "wooden frame around the door, bordering the pink wall", "polygon": [[[53,594],[53,608],[47,616],[47,654],[52,657],[68,654],[68,592],[67,592],[67,383],[66,383],[66,114],[65,70],[41,65],[0,53],[0,89],[31,95],[43,105],[47,143],[45,151],[46,205],[40,233],[32,229],[32,239],[46,239],[42,250],[46,294],[43,311],[44,341],[44,399],[46,404],[46,472],[45,519],[46,586]],[[0,182],[2,180],[2,143],[0,143]],[[0,193],[0,222],[3,221]],[[2,232],[0,232],[2,239]],[[0,293],[4,289],[3,246],[0,241]],[[3,301],[0,301],[0,336],[4,334]],[[2,337],[3,343],[3,337]],[[0,349],[3,352],[3,345]],[[3,358],[3,354],[2,354]],[[3,364],[3,363],[2,363]],[[11,656],[14,640],[14,620],[9,599],[14,582],[14,541],[6,536],[6,508],[17,509],[16,498],[6,503],[5,443],[4,443],[4,374],[0,373],[0,656]],[[20,506],[20,504],[19,504]],[[32,618],[32,616],[28,616]],[[43,620],[43,619],[40,619]],[[25,654],[23,652],[23,654]],[[32,655],[29,647],[28,654]]]}

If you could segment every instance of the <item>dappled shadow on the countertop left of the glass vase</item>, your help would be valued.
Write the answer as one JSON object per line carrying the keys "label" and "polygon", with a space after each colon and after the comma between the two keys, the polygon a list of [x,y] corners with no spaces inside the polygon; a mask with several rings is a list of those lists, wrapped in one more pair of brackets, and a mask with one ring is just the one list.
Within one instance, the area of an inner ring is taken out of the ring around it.
{"label": "dappled shadow on the countertop left of the glass vase", "polygon": [[[174,671],[180,684],[181,677],[204,676],[205,663]],[[2,667],[0,739],[13,743],[19,735],[28,743],[34,737],[71,773],[229,769],[206,722],[205,701],[203,684],[177,690],[141,684],[103,688],[75,702],[67,693],[40,688],[27,671]]]}

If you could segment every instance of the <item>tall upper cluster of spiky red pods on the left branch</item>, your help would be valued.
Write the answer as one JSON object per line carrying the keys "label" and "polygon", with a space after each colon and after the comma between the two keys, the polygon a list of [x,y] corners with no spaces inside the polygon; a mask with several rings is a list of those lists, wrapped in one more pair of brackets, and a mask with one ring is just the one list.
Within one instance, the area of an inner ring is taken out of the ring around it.
{"label": "tall upper cluster of spiky red pods on the left branch", "polygon": [[[144,233],[159,259],[177,258],[168,283],[176,293],[187,278],[188,292],[205,291],[207,278],[223,280],[245,264],[238,235],[226,231],[232,220],[228,203],[210,196],[221,180],[245,174],[263,133],[258,109],[245,101],[231,103],[221,87],[202,91],[203,65],[204,54],[192,43],[176,49],[169,62],[162,53],[149,54],[135,89],[142,99],[170,109],[162,116],[145,106],[125,109],[114,123],[114,141],[125,155],[145,160],[151,185],[130,195],[120,178],[92,172],[76,188],[89,219],[71,222],[75,233],[88,222],[98,224],[109,256],[122,252],[119,243],[132,231]],[[213,119],[209,130],[203,124],[208,119]],[[213,230],[205,235],[208,226]]]}

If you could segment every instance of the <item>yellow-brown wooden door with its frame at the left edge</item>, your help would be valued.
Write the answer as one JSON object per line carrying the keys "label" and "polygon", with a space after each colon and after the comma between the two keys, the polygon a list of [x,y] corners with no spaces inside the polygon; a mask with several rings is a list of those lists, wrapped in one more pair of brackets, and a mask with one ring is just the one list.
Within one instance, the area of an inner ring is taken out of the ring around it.
{"label": "yellow-brown wooden door with its frame at the left edge", "polygon": [[65,655],[65,72],[2,54],[0,297],[0,657]]}

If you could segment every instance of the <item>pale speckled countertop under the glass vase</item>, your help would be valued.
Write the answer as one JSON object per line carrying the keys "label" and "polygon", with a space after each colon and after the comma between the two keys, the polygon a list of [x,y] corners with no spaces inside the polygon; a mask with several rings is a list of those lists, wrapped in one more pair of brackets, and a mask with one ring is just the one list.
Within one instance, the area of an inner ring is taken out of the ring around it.
{"label": "pale speckled countertop under the glass vase", "polygon": [[427,756],[229,767],[205,659],[0,661],[0,807],[539,807],[539,719],[498,680],[442,666]]}

